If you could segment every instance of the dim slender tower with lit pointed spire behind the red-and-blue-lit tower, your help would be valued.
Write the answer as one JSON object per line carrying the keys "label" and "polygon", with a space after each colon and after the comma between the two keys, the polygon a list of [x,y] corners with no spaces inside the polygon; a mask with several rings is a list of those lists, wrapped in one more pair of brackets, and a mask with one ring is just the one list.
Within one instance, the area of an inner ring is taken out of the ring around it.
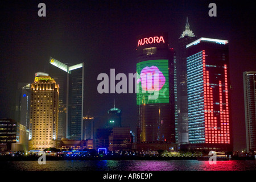
{"label": "dim slender tower with lit pointed spire behind the red-and-blue-lit tower", "polygon": [[189,28],[188,18],[185,30],[179,38],[176,59],[176,105],[175,131],[176,143],[188,143],[188,93],[187,93],[187,53],[186,45],[196,40],[196,36]]}

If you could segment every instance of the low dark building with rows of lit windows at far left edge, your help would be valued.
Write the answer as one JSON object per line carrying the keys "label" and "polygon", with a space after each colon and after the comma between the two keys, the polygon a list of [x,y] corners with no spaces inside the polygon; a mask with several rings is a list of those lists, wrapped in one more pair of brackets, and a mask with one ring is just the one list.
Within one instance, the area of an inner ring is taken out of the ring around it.
{"label": "low dark building with rows of lit windows at far left edge", "polygon": [[0,119],[0,151],[10,151],[16,143],[17,124],[14,119]]}

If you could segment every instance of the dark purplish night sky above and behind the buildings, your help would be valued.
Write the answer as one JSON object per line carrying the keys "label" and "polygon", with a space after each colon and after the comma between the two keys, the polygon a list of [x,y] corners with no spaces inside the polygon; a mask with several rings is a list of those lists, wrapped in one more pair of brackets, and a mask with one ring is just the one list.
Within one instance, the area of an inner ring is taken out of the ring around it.
{"label": "dark purplish night sky above and behind the buildings", "polygon": [[[38,4],[46,4],[46,17]],[[217,5],[210,17],[209,3]],[[0,118],[10,118],[18,82],[47,72],[49,56],[85,65],[85,113],[122,110],[122,123],[135,127],[135,94],[99,94],[97,76],[110,68],[136,72],[136,38],[169,33],[170,48],[185,30],[186,17],[197,38],[229,40],[229,73],[234,150],[246,147],[242,72],[256,71],[255,7],[250,1],[1,1]],[[118,81],[117,81],[118,82]]]}

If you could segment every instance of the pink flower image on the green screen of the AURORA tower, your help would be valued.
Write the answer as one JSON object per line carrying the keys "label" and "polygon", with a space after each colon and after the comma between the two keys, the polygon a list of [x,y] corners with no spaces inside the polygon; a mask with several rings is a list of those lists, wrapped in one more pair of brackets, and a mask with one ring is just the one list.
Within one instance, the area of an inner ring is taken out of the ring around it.
{"label": "pink flower image on the green screen of the AURORA tower", "polygon": [[[144,75],[143,75],[144,73]],[[148,73],[151,73],[152,75],[152,86],[147,86],[147,83],[150,82],[148,80],[144,80],[144,79],[147,79],[147,78],[150,78],[147,74]],[[154,75],[158,74],[158,86],[156,86],[155,88],[155,84],[154,84]],[[143,77],[142,77],[143,76]],[[143,79],[143,80],[142,80]],[[138,78],[137,80],[137,84],[139,84],[139,82],[141,81],[141,84],[142,84],[142,89],[143,90],[154,90],[154,91],[159,91],[163,88],[165,82],[166,82],[166,77],[163,76],[163,73],[160,72],[160,70],[158,69],[158,67],[155,67],[155,66],[152,66],[152,67],[145,67],[142,69],[141,71],[141,75],[140,75],[140,78]]]}

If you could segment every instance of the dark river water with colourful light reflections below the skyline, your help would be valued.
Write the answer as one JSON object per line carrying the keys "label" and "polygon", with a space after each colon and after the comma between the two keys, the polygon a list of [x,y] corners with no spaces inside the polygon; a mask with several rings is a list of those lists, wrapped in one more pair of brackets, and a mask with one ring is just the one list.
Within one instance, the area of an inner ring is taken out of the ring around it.
{"label": "dark river water with colourful light reflections below the skyline", "polygon": [[248,171],[256,169],[255,160],[57,160],[0,162],[1,170],[26,171]]}

